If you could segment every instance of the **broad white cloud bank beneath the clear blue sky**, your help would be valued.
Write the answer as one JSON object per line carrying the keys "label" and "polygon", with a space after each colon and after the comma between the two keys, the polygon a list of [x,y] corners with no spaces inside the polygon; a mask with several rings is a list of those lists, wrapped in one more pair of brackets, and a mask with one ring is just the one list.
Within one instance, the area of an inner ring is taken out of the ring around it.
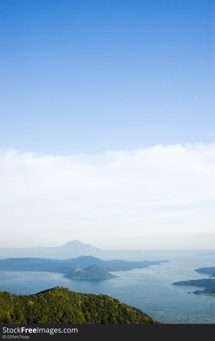
{"label": "broad white cloud bank beneath the clear blue sky", "polygon": [[212,210],[207,203],[215,196],[214,147],[156,145],[66,156],[1,151],[5,242],[9,244],[16,229],[18,239],[36,229],[35,244],[41,244],[42,232],[51,244],[58,241],[59,229],[62,242],[93,242],[94,235],[101,234],[102,243],[110,234],[116,238],[131,229],[144,236],[149,228],[152,235],[162,228],[165,234],[170,226],[184,233],[187,229],[211,233]]}

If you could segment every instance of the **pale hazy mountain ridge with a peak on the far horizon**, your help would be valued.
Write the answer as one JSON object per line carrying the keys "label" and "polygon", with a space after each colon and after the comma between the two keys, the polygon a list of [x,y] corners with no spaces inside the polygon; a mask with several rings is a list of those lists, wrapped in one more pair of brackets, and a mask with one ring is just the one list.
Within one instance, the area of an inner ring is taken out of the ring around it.
{"label": "pale hazy mountain ridge with a peak on the far horizon", "polygon": [[[185,250],[177,250],[182,253]],[[199,250],[189,250],[192,253],[199,253]],[[202,250],[203,252],[204,250]],[[208,250],[213,251],[213,250]],[[0,248],[0,259],[5,258],[51,258],[67,260],[68,258],[76,258],[79,256],[94,256],[102,259],[115,259],[129,255],[144,255],[153,253],[173,253],[174,250],[102,250],[94,247],[92,244],[85,244],[79,240],[71,240],[62,246],[35,248]]]}

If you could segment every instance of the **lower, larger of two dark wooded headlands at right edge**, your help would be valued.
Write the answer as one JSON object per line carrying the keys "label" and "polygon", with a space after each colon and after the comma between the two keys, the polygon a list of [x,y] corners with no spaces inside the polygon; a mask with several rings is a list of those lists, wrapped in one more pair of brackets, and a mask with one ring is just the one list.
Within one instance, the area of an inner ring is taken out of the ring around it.
{"label": "lower, larger of two dark wooded headlands at right edge", "polygon": [[204,278],[204,279],[193,279],[190,281],[180,281],[172,283],[173,285],[195,285],[195,286],[206,286],[204,290],[196,290],[193,294],[201,295],[215,295],[215,279]]}

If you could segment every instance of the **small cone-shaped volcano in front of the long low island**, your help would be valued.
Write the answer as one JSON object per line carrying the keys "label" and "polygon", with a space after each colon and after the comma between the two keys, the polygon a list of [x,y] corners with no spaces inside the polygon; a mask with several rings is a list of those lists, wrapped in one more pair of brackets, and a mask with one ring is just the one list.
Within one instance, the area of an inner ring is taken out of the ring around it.
{"label": "small cone-shaped volcano in front of the long low island", "polygon": [[118,276],[101,269],[98,265],[90,265],[87,268],[78,267],[75,271],[68,272],[64,277],[73,279],[108,279]]}

